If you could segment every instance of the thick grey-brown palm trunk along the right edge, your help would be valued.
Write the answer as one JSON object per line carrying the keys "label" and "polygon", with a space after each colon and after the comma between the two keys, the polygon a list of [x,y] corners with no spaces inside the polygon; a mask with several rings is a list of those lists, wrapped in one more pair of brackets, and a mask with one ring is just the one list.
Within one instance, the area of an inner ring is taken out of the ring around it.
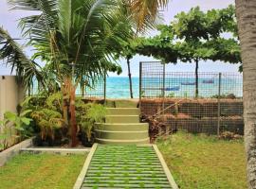
{"label": "thick grey-brown palm trunk along the right edge", "polygon": [[243,62],[243,97],[247,183],[256,189],[256,0],[236,0]]}

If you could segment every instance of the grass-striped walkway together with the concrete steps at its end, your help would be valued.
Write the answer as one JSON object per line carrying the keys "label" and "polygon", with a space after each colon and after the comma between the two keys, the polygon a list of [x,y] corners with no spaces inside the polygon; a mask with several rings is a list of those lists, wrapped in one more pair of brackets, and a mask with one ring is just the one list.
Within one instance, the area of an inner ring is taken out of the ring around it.
{"label": "grass-striped walkway together with the concrete steps at its end", "polygon": [[104,145],[92,147],[74,189],[177,189],[157,146],[149,145],[137,102],[119,100],[114,107],[105,123],[96,124],[96,141]]}

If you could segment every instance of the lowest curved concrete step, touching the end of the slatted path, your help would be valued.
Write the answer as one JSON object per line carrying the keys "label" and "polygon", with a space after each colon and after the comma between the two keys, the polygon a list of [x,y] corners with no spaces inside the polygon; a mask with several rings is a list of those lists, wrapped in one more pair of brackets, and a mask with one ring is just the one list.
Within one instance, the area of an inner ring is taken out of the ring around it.
{"label": "lowest curved concrete step, touching the end of the slatted path", "polygon": [[113,140],[113,139],[95,139],[97,143],[101,145],[145,145],[149,144],[150,139],[149,137],[139,140]]}

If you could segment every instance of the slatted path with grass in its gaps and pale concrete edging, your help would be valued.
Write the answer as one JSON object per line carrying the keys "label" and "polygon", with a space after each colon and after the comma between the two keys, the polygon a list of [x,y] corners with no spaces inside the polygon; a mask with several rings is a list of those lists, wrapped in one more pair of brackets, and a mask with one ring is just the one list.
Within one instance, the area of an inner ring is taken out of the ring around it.
{"label": "slatted path with grass in its gaps and pale concrete edging", "polygon": [[93,146],[74,189],[176,189],[156,146]]}

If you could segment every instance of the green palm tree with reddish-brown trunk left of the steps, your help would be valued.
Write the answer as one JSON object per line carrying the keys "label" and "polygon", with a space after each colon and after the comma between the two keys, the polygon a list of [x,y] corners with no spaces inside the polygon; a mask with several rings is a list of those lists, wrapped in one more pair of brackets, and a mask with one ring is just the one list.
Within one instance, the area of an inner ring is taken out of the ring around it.
{"label": "green palm tree with reddish-brown trunk left of the steps", "polygon": [[64,104],[70,105],[75,146],[77,83],[103,77],[115,67],[112,54],[132,37],[132,28],[126,28],[131,18],[124,16],[125,8],[119,0],[9,0],[9,3],[13,9],[37,11],[22,18],[20,26],[37,50],[35,57],[52,65],[64,96],[68,96],[68,103]]}

